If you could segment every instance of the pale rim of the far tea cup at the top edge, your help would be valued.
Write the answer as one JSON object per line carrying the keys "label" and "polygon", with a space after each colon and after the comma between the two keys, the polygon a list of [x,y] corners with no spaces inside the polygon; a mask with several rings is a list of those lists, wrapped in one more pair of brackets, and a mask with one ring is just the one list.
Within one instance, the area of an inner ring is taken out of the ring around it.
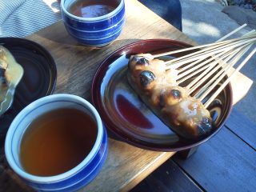
{"label": "pale rim of the far tea cup at the top edge", "polygon": [[84,22],[97,22],[97,21],[100,21],[100,20],[110,18],[114,14],[117,14],[118,11],[121,10],[122,6],[124,5],[124,0],[120,0],[120,3],[118,5],[118,7],[115,8],[113,11],[111,11],[109,14],[104,14],[100,17],[95,17],[95,18],[82,18],[82,17],[75,16],[74,14],[70,14],[70,12],[68,12],[66,10],[66,7],[64,6],[65,2],[66,2],[66,0],[61,1],[61,10],[64,11],[64,13],[66,15],[68,15],[70,18],[75,18],[77,20],[81,20],[81,21],[84,21]]}

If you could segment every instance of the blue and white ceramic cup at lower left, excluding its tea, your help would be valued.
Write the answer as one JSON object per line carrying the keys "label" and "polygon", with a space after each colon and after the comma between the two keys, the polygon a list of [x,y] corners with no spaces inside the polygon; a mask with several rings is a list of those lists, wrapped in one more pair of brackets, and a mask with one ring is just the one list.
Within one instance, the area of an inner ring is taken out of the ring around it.
{"label": "blue and white ceramic cup at lower left, excluding its tea", "polygon": [[[20,160],[22,137],[30,122],[50,110],[77,109],[90,115],[97,125],[97,137],[90,153],[74,168],[65,173],[42,177],[27,173]],[[28,185],[40,191],[74,191],[86,186],[102,169],[107,155],[107,135],[94,106],[85,99],[71,94],[54,94],[40,98],[26,106],[11,123],[6,134],[5,153],[10,167]]]}

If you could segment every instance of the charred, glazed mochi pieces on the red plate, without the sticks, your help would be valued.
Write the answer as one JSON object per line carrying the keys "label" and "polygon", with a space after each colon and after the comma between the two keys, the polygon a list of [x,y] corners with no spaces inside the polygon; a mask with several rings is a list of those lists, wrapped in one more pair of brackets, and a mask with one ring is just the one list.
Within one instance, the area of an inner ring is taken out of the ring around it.
{"label": "charred, glazed mochi pieces on the red plate, without the sticks", "polygon": [[177,75],[151,54],[133,55],[128,63],[128,82],[150,110],[182,138],[201,138],[212,129],[210,113],[178,86]]}

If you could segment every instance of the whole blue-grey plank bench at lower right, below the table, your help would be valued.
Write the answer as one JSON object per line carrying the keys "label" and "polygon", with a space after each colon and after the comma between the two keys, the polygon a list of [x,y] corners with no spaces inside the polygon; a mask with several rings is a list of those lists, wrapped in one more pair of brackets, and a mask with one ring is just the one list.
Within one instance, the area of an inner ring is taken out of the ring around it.
{"label": "whole blue-grey plank bench at lower right, below the table", "polygon": [[174,155],[132,192],[255,191],[256,125],[233,110],[225,126],[188,159]]}

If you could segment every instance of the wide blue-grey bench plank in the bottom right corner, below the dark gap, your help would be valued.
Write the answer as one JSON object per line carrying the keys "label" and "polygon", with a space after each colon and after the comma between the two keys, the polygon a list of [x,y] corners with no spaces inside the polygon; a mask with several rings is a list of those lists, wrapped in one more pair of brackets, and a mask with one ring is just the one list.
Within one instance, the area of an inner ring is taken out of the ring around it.
{"label": "wide blue-grey bench plank in the bottom right corner, below the dark gap", "polygon": [[206,191],[256,189],[256,153],[226,127],[186,161],[173,159]]}

